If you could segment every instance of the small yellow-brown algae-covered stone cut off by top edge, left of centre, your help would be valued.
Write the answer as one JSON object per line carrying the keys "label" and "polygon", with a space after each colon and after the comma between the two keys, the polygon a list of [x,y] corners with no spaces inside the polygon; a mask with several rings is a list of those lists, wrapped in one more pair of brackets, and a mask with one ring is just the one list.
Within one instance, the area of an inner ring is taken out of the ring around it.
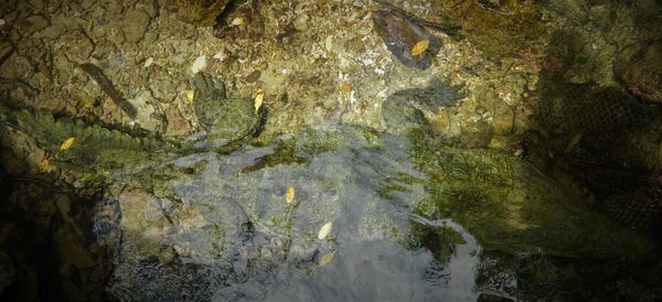
{"label": "small yellow-brown algae-covered stone cut off by top edge, left of centre", "polygon": [[180,7],[180,17],[200,26],[212,26],[216,18],[232,0],[175,0]]}

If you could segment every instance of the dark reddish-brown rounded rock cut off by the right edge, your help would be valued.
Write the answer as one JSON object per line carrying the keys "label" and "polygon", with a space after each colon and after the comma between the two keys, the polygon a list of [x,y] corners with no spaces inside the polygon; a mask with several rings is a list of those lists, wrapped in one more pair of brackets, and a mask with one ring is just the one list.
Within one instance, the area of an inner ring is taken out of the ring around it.
{"label": "dark reddish-brown rounded rock cut off by the right edge", "polygon": [[627,65],[620,79],[633,95],[662,104],[662,42],[653,42]]}

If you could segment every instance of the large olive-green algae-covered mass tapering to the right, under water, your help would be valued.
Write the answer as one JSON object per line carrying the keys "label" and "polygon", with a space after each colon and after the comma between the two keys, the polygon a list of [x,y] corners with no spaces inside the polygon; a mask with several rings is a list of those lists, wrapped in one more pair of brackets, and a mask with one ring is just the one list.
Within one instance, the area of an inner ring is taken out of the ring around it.
{"label": "large olive-green algae-covered mass tapering to the right, under water", "polygon": [[654,250],[512,154],[447,147],[426,129],[409,138],[413,161],[430,176],[419,214],[458,222],[488,250],[632,259]]}

